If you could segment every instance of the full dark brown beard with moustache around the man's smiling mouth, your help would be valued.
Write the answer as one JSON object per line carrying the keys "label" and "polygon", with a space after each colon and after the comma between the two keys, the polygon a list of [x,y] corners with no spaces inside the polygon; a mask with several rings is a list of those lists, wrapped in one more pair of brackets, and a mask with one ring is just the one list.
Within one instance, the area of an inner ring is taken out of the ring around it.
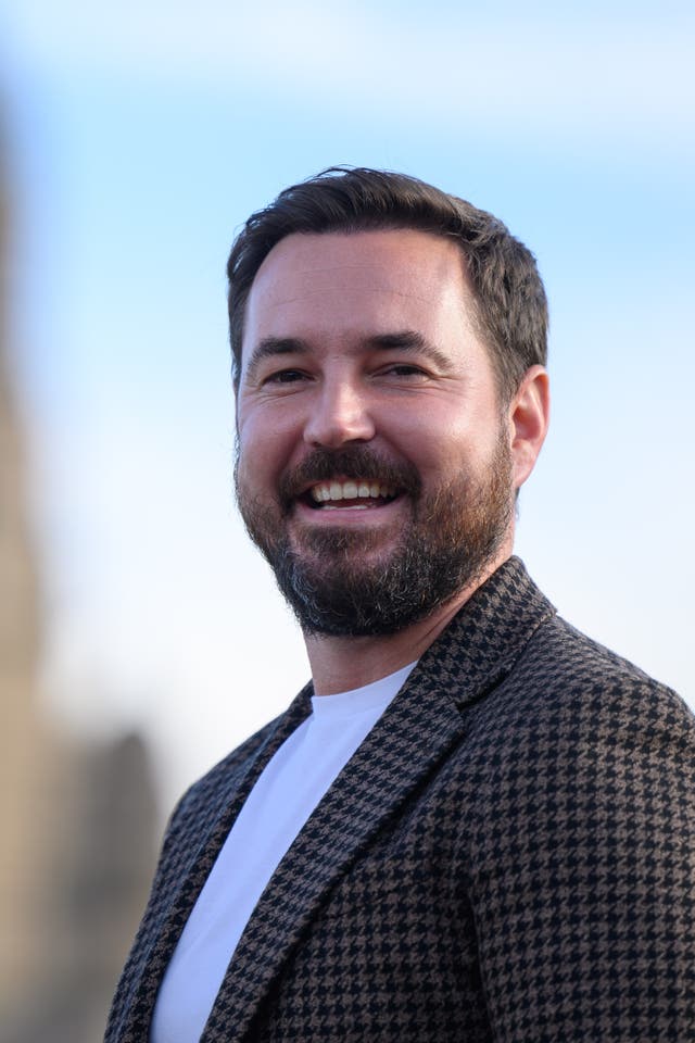
{"label": "full dark brown beard with moustache around the man's smiling mouth", "polygon": [[[387,552],[378,553],[383,531],[366,526],[364,531],[306,527],[290,538],[299,491],[338,474],[379,480],[408,498],[410,520],[401,523]],[[515,503],[511,456],[502,431],[482,475],[456,474],[430,493],[422,491],[412,464],[394,464],[356,445],[315,450],[281,477],[277,502],[251,495],[239,457],[235,482],[249,535],[302,630],[331,637],[396,633],[475,583],[504,543]]]}

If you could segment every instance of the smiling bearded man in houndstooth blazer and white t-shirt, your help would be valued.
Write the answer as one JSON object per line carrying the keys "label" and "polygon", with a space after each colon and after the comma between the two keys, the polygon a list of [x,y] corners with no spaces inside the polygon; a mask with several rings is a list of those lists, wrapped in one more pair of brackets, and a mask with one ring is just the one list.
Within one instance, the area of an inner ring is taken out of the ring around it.
{"label": "smiling bearded man in houndstooth blazer and white t-shirt", "polygon": [[239,505],[313,682],[174,813],[108,1041],[694,1039],[695,721],[511,557],[532,255],[329,171],[228,274]]}

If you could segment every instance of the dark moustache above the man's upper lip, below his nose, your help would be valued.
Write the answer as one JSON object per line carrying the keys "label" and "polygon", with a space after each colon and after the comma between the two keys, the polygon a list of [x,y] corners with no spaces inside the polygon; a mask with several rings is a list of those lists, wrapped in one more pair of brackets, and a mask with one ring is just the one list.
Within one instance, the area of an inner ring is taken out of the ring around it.
{"label": "dark moustache above the man's upper lip, below his nose", "polygon": [[336,450],[317,448],[301,464],[281,475],[278,492],[283,510],[290,510],[307,485],[329,481],[338,475],[380,481],[414,498],[419,495],[422,487],[417,469],[406,461],[387,460],[364,445],[345,445]]}

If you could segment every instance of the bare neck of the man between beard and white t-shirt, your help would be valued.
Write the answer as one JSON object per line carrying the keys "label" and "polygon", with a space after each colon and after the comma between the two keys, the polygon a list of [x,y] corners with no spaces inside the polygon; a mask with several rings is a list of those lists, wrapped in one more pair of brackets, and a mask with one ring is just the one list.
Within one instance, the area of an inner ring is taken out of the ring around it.
{"label": "bare neck of the man between beard and white t-shirt", "polygon": [[495,569],[509,556],[509,552],[495,561],[477,578],[475,583],[459,591],[451,601],[419,623],[381,637],[333,638],[323,634],[305,634],[306,654],[312,667],[314,691],[317,695],[333,695],[361,688],[381,677],[400,670],[419,657],[437,640],[471,594],[478,590]]}

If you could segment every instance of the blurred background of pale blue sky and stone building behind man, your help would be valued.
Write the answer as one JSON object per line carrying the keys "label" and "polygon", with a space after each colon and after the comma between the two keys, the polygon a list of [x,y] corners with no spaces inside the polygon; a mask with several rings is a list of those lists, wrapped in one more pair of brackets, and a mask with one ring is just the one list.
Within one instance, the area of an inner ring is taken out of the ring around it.
{"label": "blurred background of pale blue sky and stone building behind man", "polygon": [[694,704],[693,9],[0,3],[0,1001],[88,1043],[184,788],[307,677],[231,488],[225,261],[336,163],[493,211],[552,310],[518,552]]}

